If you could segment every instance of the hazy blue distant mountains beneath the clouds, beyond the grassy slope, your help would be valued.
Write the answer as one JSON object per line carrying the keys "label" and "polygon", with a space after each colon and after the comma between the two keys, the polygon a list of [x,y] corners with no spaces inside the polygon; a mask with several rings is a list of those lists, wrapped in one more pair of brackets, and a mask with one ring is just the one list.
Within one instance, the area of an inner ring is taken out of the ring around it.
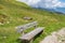
{"label": "hazy blue distant mountains beneath the clouds, beyond the grassy slope", "polygon": [[46,10],[46,11],[50,11],[50,12],[65,14],[65,8],[54,8],[54,9],[34,8],[34,9],[40,9],[40,10]]}

